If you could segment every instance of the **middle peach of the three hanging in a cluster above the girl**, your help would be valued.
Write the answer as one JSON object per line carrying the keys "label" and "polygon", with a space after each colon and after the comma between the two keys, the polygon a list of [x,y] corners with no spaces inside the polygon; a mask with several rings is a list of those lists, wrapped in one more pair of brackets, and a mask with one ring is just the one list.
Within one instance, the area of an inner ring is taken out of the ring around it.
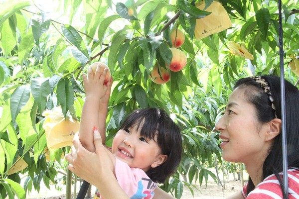
{"label": "middle peach of the three hanging in a cluster above the girl", "polygon": [[185,53],[177,48],[170,48],[170,50],[172,52],[172,59],[169,65],[169,70],[174,72],[182,70],[187,64]]}

